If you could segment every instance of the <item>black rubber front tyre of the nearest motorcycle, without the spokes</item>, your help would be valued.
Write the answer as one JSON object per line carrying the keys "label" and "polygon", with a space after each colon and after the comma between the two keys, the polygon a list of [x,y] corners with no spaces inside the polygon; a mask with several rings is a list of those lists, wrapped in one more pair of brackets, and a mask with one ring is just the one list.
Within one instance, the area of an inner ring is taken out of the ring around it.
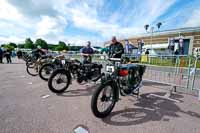
{"label": "black rubber front tyre of the nearest motorcycle, without the spokes", "polygon": [[[113,99],[112,99],[112,104],[103,112],[99,111],[98,110],[98,105],[97,105],[97,102],[98,102],[98,97],[101,93],[101,91],[104,90],[104,88],[110,86],[111,87],[111,92],[113,93]],[[113,110],[114,106],[115,106],[115,103],[116,103],[116,100],[115,100],[115,93],[114,93],[114,88],[112,87],[112,85],[110,83],[107,83],[107,84],[101,84],[93,93],[92,95],[92,100],[91,100],[91,110],[93,112],[93,114],[97,117],[97,118],[105,118],[107,117],[111,111]]]}

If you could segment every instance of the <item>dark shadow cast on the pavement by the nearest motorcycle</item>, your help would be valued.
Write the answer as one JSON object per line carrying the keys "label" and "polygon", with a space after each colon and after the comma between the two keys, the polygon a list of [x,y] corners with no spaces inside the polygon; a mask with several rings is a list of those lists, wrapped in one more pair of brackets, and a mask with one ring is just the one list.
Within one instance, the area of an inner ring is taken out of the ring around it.
{"label": "dark shadow cast on the pavement by the nearest motorcycle", "polygon": [[[102,119],[103,122],[115,126],[129,126],[149,121],[170,121],[172,118],[181,117],[180,113],[200,119],[200,114],[196,112],[183,111],[175,102],[150,96],[149,94],[142,94],[133,108],[112,112],[107,118]],[[164,95],[164,93],[153,94]],[[177,99],[181,97],[181,95],[177,95]]]}

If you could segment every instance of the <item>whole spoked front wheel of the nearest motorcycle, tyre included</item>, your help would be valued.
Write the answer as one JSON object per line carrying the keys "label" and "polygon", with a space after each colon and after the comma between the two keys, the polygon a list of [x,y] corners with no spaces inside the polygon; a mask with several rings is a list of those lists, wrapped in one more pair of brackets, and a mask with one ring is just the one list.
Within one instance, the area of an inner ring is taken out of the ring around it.
{"label": "whole spoked front wheel of the nearest motorcycle, tyre included", "polygon": [[107,117],[115,106],[116,100],[111,84],[103,84],[97,88],[92,96],[91,109],[98,118]]}

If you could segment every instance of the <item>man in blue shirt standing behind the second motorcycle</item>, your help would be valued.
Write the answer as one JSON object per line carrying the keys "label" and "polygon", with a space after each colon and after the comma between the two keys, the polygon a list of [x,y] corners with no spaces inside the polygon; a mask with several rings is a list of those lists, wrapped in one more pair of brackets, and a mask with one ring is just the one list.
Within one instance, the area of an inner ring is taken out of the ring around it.
{"label": "man in blue shirt standing behind the second motorcycle", "polygon": [[91,42],[87,41],[85,47],[80,50],[80,53],[83,57],[83,63],[91,63],[92,62],[92,54],[94,54],[94,50],[91,48]]}

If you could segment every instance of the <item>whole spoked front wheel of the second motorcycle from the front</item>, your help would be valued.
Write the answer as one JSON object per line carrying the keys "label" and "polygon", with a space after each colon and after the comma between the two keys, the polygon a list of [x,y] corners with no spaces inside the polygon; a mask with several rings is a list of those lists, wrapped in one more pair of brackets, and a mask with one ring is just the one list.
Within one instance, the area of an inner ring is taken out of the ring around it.
{"label": "whole spoked front wheel of the second motorcycle from the front", "polygon": [[63,93],[68,88],[70,79],[70,75],[65,70],[57,69],[49,77],[49,89],[54,93]]}

